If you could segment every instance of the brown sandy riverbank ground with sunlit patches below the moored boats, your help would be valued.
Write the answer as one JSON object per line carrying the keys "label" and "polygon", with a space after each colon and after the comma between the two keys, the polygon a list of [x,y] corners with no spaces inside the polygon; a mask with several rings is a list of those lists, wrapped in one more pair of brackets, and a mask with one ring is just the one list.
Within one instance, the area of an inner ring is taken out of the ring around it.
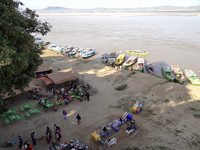
{"label": "brown sandy riverbank ground with sunlit patches below the moored boats", "polygon": [[[133,115],[140,125],[139,134],[130,138],[125,130],[120,131],[116,135],[117,145],[109,149],[135,147],[144,150],[199,150],[200,118],[194,117],[194,114],[200,114],[200,87],[168,82],[147,73],[137,72],[130,76],[130,71],[116,71],[105,64],[91,61],[92,58],[68,58],[48,50],[41,57],[44,63],[52,64],[53,72],[72,68],[83,76],[84,82],[96,87],[98,93],[92,95],[90,101],[77,100],[59,107],[57,112],[41,110],[39,115],[30,119],[23,118],[10,125],[5,125],[0,120],[1,143],[21,135],[32,144],[30,134],[33,131],[39,138],[45,135],[47,126],[53,128],[57,124],[62,130],[61,142],[75,138],[91,149],[97,149],[97,144],[91,140],[91,133],[114,119],[119,119],[124,112],[129,112],[137,100],[144,100],[144,110]],[[114,89],[124,83],[128,85],[127,89]],[[15,98],[12,107],[27,102],[35,104],[34,100],[27,100],[26,95],[21,97],[20,100]],[[68,112],[67,120],[62,117],[63,109]],[[77,113],[82,117],[80,125],[76,124]],[[103,146],[99,146],[103,149]],[[44,139],[34,146],[34,150],[46,150],[48,147]],[[17,145],[13,149],[17,149]]]}

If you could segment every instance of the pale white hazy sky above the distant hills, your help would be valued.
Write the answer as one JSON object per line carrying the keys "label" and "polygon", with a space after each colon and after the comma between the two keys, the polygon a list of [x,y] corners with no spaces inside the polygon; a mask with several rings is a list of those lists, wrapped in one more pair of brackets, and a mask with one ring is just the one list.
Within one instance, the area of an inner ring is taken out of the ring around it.
{"label": "pale white hazy sky above the distant hills", "polygon": [[152,6],[195,6],[200,0],[20,0],[25,7],[41,9],[49,6],[66,8],[135,8]]}

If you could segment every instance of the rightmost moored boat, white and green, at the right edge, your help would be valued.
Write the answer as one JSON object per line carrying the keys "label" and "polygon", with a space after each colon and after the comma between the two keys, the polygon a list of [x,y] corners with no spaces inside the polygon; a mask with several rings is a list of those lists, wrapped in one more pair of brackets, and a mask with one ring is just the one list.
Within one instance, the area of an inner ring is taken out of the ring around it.
{"label": "rightmost moored boat, white and green, at the right edge", "polygon": [[193,84],[193,85],[200,85],[200,80],[197,77],[197,75],[190,69],[183,69],[183,72],[187,79]]}

